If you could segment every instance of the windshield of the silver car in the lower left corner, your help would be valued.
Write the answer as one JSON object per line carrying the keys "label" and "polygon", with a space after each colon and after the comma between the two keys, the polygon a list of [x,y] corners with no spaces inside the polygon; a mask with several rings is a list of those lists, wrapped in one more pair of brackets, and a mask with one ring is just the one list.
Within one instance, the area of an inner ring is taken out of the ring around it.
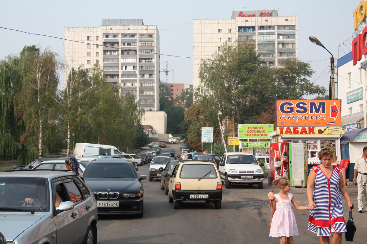
{"label": "windshield of the silver car in the lower left corner", "polygon": [[[0,178],[0,211],[48,211],[50,198],[45,179]],[[33,199],[32,204],[26,198]]]}

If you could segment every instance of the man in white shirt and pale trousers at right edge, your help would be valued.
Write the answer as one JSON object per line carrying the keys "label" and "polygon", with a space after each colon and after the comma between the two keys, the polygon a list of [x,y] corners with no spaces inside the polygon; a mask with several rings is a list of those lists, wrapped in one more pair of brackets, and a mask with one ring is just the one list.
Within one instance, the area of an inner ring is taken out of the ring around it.
{"label": "man in white shirt and pale trousers at right edge", "polygon": [[358,212],[362,213],[363,209],[367,207],[367,147],[363,147],[363,154],[356,157],[356,163],[354,165],[353,184],[356,183],[356,176],[358,184]]}

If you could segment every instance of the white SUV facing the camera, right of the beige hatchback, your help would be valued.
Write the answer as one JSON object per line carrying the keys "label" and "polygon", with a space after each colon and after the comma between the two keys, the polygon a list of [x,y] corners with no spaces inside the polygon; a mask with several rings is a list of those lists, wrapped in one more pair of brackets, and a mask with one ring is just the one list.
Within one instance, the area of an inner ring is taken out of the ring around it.
{"label": "white SUV facing the camera, right of the beige hatchback", "polygon": [[233,183],[257,184],[264,188],[264,171],[257,159],[250,153],[224,153],[219,162],[219,174],[226,188]]}

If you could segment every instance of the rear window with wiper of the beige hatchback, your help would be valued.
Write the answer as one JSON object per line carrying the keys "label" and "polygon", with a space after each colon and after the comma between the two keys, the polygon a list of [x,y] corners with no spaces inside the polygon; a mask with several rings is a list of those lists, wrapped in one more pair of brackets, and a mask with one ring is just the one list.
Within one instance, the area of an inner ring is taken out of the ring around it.
{"label": "rear window with wiper of the beige hatchback", "polygon": [[182,165],[180,178],[212,179],[217,178],[217,171],[212,164],[184,164]]}

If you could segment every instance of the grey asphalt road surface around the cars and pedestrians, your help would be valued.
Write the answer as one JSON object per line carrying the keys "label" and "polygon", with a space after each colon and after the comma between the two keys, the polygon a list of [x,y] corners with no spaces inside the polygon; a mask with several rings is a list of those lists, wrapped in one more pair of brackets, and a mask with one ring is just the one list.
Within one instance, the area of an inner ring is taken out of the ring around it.
{"label": "grey asphalt road surface around the cars and pedestrians", "polygon": [[[181,144],[167,144],[174,148],[176,155]],[[166,149],[167,149],[166,148]],[[162,148],[161,153],[166,149]],[[139,166],[138,174],[148,174],[148,165]],[[271,187],[264,180],[264,189],[257,185],[234,185],[223,187],[222,208],[214,209],[214,204],[185,202],[180,209],[168,203],[168,196],[160,189],[160,181],[143,180],[144,216],[99,216],[98,243],[279,243],[279,239],[269,237],[270,205],[268,193]],[[353,204],[357,206],[357,187],[348,186]],[[274,191],[277,193],[277,189]],[[306,188],[292,188],[291,193],[299,205],[307,206]],[[344,199],[344,198],[343,198]],[[348,209],[344,200],[344,216]],[[316,234],[307,231],[309,211],[292,208],[297,219],[299,236],[294,243],[319,243]],[[367,213],[353,213],[357,226],[355,243],[367,243],[365,221]],[[343,235],[342,243],[345,243]]]}

